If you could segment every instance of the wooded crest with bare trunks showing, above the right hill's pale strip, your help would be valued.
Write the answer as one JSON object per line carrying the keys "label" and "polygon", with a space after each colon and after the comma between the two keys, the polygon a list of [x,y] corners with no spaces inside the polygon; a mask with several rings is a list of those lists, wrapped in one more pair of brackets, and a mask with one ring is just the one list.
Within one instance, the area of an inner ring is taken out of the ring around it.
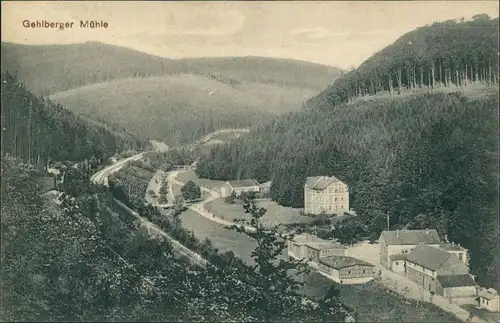
{"label": "wooded crest with bare trunks showing, above the right hill's pale strip", "polygon": [[418,89],[498,84],[499,18],[476,15],[411,31],[335,80],[308,102],[328,107],[365,95],[402,94]]}

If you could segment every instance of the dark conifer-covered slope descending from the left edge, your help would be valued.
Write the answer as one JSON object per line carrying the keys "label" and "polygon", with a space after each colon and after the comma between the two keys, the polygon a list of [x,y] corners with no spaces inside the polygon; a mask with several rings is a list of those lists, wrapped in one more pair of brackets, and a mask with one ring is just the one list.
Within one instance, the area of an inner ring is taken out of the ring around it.
{"label": "dark conifer-covered slope descending from the left edge", "polygon": [[13,75],[2,73],[1,155],[43,167],[48,159],[104,159],[142,142],[111,125],[78,117],[61,105],[37,98]]}

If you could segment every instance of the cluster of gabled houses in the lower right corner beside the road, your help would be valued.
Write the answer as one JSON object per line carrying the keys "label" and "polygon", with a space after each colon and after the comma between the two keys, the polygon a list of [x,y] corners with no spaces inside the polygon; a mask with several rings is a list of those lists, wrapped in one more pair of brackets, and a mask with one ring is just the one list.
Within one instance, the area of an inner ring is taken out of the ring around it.
{"label": "cluster of gabled houses in the lower right corner beside the road", "polygon": [[379,245],[383,267],[404,274],[429,292],[447,298],[477,297],[479,307],[499,310],[498,293],[478,289],[469,273],[467,249],[442,242],[436,230],[383,231]]}

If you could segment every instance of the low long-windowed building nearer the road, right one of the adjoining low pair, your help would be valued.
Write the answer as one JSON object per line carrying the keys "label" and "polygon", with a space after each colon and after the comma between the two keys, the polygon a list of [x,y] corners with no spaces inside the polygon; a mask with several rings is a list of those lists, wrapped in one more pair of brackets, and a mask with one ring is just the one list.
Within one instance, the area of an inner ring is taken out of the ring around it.
{"label": "low long-windowed building nearer the road, right one of the adjoining low pair", "polygon": [[340,284],[362,284],[375,276],[374,265],[347,256],[322,258],[318,267],[321,274]]}

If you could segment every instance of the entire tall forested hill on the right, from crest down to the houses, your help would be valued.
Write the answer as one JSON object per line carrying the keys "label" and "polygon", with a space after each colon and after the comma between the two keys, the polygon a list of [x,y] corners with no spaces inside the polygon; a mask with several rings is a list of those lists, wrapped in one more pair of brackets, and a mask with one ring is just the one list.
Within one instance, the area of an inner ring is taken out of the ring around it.
{"label": "entire tall forested hill on the right, from crest down to the houses", "polygon": [[393,229],[435,227],[470,250],[473,273],[491,285],[499,270],[497,84],[498,18],[436,23],[341,77],[307,109],[214,147],[197,172],[272,180],[272,199],[293,207],[303,206],[307,176],[335,175],[359,216],[331,234],[375,240],[387,215]]}

